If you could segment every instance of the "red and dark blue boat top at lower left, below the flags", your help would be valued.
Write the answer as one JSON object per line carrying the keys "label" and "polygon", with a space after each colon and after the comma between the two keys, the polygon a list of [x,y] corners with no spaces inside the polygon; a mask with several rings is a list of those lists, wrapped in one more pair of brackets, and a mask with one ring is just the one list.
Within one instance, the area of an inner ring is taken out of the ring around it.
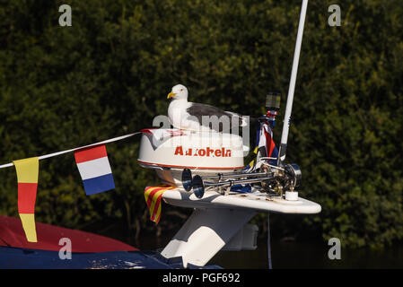
{"label": "red and dark blue boat top at lower left, below the flags", "polygon": [[[0,215],[0,269],[183,268],[181,257],[166,259],[158,252],[140,251],[97,234],[40,222],[36,223],[36,230],[38,242],[28,242],[20,219]],[[70,241],[71,259],[62,259],[66,257],[67,245],[60,239]],[[192,267],[196,266],[188,265]]]}

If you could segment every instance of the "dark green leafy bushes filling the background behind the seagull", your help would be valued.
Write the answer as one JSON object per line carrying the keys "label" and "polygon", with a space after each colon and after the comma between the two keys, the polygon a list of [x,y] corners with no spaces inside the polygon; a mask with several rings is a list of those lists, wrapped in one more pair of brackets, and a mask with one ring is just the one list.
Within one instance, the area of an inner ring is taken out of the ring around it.
{"label": "dark green leafy bushes filling the background behind the seagull", "polygon": [[[61,4],[72,6],[72,27],[58,25]],[[151,127],[176,83],[190,100],[250,115],[281,91],[284,109],[300,4],[1,2],[0,164]],[[273,234],[380,247],[403,238],[403,5],[343,1],[342,26],[330,27],[330,4],[308,6],[287,155],[322,212],[275,215]],[[40,161],[37,222],[154,229],[143,191],[156,178],[137,164],[138,143],[108,144],[117,188],[97,196],[84,195],[73,154]],[[0,181],[0,213],[16,216],[13,168]],[[162,229],[184,221],[163,215]],[[255,218],[262,230],[265,220]]]}

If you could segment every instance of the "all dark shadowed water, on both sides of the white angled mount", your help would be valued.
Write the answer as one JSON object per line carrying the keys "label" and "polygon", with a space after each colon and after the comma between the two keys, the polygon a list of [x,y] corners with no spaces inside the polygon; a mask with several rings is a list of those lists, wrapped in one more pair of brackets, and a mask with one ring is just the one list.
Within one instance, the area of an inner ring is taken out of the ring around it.
{"label": "all dark shadowed water, on both sides of the white angled mount", "polygon": [[[113,226],[112,226],[113,225]],[[140,250],[156,250],[164,248],[177,230],[164,230],[162,236],[142,234],[139,240],[127,238],[127,230],[122,225],[112,224],[102,235],[124,241]],[[96,230],[89,230],[95,231]],[[403,244],[395,244],[383,249],[343,248],[341,242],[341,259],[330,260],[327,242],[313,241],[281,241],[271,243],[273,269],[350,269],[350,268],[403,268]],[[266,269],[267,239],[258,240],[258,248],[252,251],[220,251],[209,264],[223,268]]]}

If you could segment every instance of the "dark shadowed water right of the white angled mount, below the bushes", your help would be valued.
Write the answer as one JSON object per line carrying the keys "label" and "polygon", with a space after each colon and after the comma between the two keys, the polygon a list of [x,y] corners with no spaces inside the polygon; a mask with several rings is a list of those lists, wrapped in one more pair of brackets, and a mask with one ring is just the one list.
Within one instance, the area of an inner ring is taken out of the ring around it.
{"label": "dark shadowed water right of the white angled mount, below the bushes", "polygon": [[[341,248],[341,259],[330,260],[327,243],[274,241],[273,269],[310,268],[403,268],[403,245],[381,250]],[[213,258],[224,268],[267,268],[267,242],[260,240],[254,251],[223,251]]]}

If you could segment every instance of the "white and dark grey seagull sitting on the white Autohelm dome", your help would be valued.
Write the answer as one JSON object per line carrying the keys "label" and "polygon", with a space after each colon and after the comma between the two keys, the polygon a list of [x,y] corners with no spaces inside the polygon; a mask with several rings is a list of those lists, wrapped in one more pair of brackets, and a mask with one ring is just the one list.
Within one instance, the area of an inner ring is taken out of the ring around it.
{"label": "white and dark grey seagull sitting on the white Autohelm dome", "polygon": [[188,101],[188,89],[182,84],[172,87],[167,99],[171,99],[168,117],[175,128],[229,133],[235,126],[248,126],[248,118],[237,113]]}

